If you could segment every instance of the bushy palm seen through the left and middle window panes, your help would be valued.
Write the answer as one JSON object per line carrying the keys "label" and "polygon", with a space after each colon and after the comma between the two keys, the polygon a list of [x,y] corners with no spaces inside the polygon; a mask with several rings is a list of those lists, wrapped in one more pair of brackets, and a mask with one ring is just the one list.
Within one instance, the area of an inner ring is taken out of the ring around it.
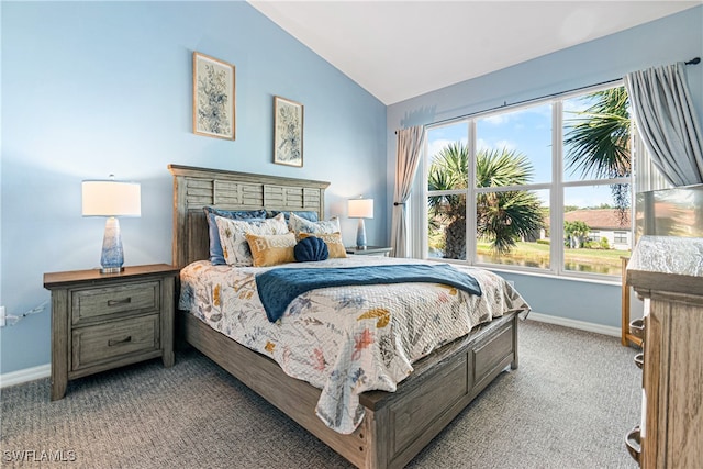
{"label": "bushy palm seen through the left and middle window panes", "polygon": [[[434,158],[427,178],[428,190],[466,189],[469,152],[460,142],[444,147]],[[480,150],[476,156],[476,186],[504,187],[529,182],[533,168],[515,150]],[[466,196],[432,196],[431,226],[445,228],[444,257],[466,259]],[[490,239],[496,254],[510,253],[521,236],[543,227],[539,199],[532,192],[488,192],[477,196],[477,237]]]}

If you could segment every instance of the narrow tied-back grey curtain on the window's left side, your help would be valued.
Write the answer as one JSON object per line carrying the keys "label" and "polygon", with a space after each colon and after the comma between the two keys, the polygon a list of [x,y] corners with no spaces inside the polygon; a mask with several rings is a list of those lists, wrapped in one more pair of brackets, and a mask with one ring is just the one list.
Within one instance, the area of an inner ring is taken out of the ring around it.
{"label": "narrow tied-back grey curtain on the window's left side", "polygon": [[393,256],[408,257],[408,211],[405,203],[410,198],[417,165],[425,141],[422,125],[402,129],[395,132],[395,187],[393,189],[393,219],[391,223],[391,247]]}

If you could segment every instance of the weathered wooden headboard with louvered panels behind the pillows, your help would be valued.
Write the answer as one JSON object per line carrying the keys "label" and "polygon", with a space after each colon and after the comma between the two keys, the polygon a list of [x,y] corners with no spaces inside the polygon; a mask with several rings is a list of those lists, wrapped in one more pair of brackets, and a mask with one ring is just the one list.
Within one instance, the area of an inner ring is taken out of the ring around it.
{"label": "weathered wooden headboard with louvered panels behind the pillows", "polygon": [[330,182],[168,165],[174,175],[174,259],[185,267],[210,257],[203,206],[223,210],[306,210],[325,213]]}

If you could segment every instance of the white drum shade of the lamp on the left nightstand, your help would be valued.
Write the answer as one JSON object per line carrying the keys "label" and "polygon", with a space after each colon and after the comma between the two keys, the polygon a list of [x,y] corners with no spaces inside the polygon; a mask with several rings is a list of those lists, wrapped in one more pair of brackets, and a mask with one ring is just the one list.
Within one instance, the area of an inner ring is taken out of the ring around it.
{"label": "white drum shade of the lamp on the left nightstand", "polygon": [[138,182],[93,180],[82,182],[83,216],[142,216]]}

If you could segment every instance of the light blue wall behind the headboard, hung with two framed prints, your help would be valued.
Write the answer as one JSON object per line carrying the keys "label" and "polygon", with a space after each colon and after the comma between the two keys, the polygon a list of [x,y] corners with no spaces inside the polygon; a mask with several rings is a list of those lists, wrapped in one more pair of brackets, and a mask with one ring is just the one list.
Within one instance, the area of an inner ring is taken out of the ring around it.
{"label": "light blue wall behind the headboard, hung with two framed prints", "polygon": [[[142,183],[121,222],[125,264],[170,263],[169,163],[331,181],[327,216],[376,200],[388,243],[386,107],[244,2],[8,2],[2,13],[0,304],[49,299],[43,273],[99,265],[104,221],[80,215],[80,181]],[[236,141],[191,132],[191,60],[236,66]],[[274,165],[272,97],[304,104],[304,167]],[[0,373],[49,362],[48,309],[0,330]]]}

